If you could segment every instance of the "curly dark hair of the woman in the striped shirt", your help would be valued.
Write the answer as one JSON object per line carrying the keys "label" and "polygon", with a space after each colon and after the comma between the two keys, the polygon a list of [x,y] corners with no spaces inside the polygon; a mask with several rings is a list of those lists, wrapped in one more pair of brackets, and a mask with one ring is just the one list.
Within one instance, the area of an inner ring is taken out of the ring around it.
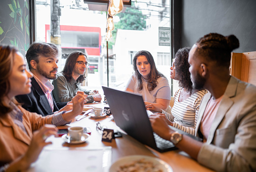
{"label": "curly dark hair of the woman in the striped shirt", "polygon": [[190,47],[180,48],[175,54],[175,77],[179,80],[179,86],[187,89],[192,94],[192,82],[190,80],[188,54]]}

